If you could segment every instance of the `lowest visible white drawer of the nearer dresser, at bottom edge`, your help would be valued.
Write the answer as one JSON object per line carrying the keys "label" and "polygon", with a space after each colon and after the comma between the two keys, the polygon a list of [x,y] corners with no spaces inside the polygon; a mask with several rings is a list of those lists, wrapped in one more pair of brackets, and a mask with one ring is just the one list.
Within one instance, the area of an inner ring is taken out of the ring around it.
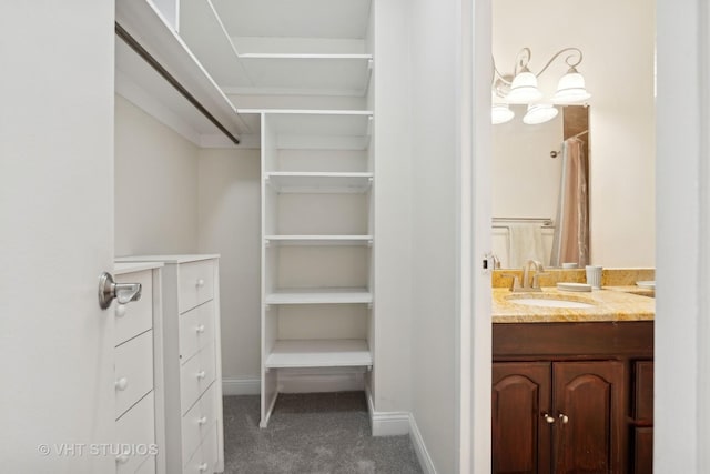
{"label": "lowest visible white drawer of the nearer dresser, at bottom edge", "polygon": [[153,392],[115,422],[118,446],[126,452],[116,456],[116,473],[134,473],[145,457],[155,455]]}

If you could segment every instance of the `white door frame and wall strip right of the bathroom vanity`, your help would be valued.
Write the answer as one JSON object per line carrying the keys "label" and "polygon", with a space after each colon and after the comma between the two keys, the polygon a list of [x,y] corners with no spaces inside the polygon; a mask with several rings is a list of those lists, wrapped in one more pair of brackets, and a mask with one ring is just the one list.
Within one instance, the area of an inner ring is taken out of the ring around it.
{"label": "white door frame and wall strip right of the bathroom vanity", "polygon": [[658,2],[658,473],[710,472],[709,28],[707,2]]}

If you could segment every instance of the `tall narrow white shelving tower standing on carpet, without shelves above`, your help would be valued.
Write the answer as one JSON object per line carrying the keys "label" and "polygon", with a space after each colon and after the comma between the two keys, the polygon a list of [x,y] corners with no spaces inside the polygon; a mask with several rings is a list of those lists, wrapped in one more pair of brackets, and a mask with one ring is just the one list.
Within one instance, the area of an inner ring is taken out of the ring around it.
{"label": "tall narrow white shelving tower standing on carpet, without shelves above", "polygon": [[262,139],[262,421],[278,370],[373,366],[373,112],[248,110]]}

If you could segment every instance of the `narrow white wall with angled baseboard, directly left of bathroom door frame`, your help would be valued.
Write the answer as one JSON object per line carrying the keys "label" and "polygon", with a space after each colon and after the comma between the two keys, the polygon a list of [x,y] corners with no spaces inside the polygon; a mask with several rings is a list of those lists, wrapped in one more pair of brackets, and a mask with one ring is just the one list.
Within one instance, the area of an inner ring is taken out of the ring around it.
{"label": "narrow white wall with angled baseboard, directly left of bathroom door frame", "polygon": [[412,412],[440,473],[457,472],[458,456],[459,22],[455,0],[412,2]]}

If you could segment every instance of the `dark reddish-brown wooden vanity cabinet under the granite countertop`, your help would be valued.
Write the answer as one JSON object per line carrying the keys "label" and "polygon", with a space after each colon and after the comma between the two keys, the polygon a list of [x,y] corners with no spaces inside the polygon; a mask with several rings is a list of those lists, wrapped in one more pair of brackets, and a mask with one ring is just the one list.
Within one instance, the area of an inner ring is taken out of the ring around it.
{"label": "dark reddish-brown wooden vanity cabinet under the granite countertop", "polygon": [[652,322],[494,324],[494,473],[651,473]]}

